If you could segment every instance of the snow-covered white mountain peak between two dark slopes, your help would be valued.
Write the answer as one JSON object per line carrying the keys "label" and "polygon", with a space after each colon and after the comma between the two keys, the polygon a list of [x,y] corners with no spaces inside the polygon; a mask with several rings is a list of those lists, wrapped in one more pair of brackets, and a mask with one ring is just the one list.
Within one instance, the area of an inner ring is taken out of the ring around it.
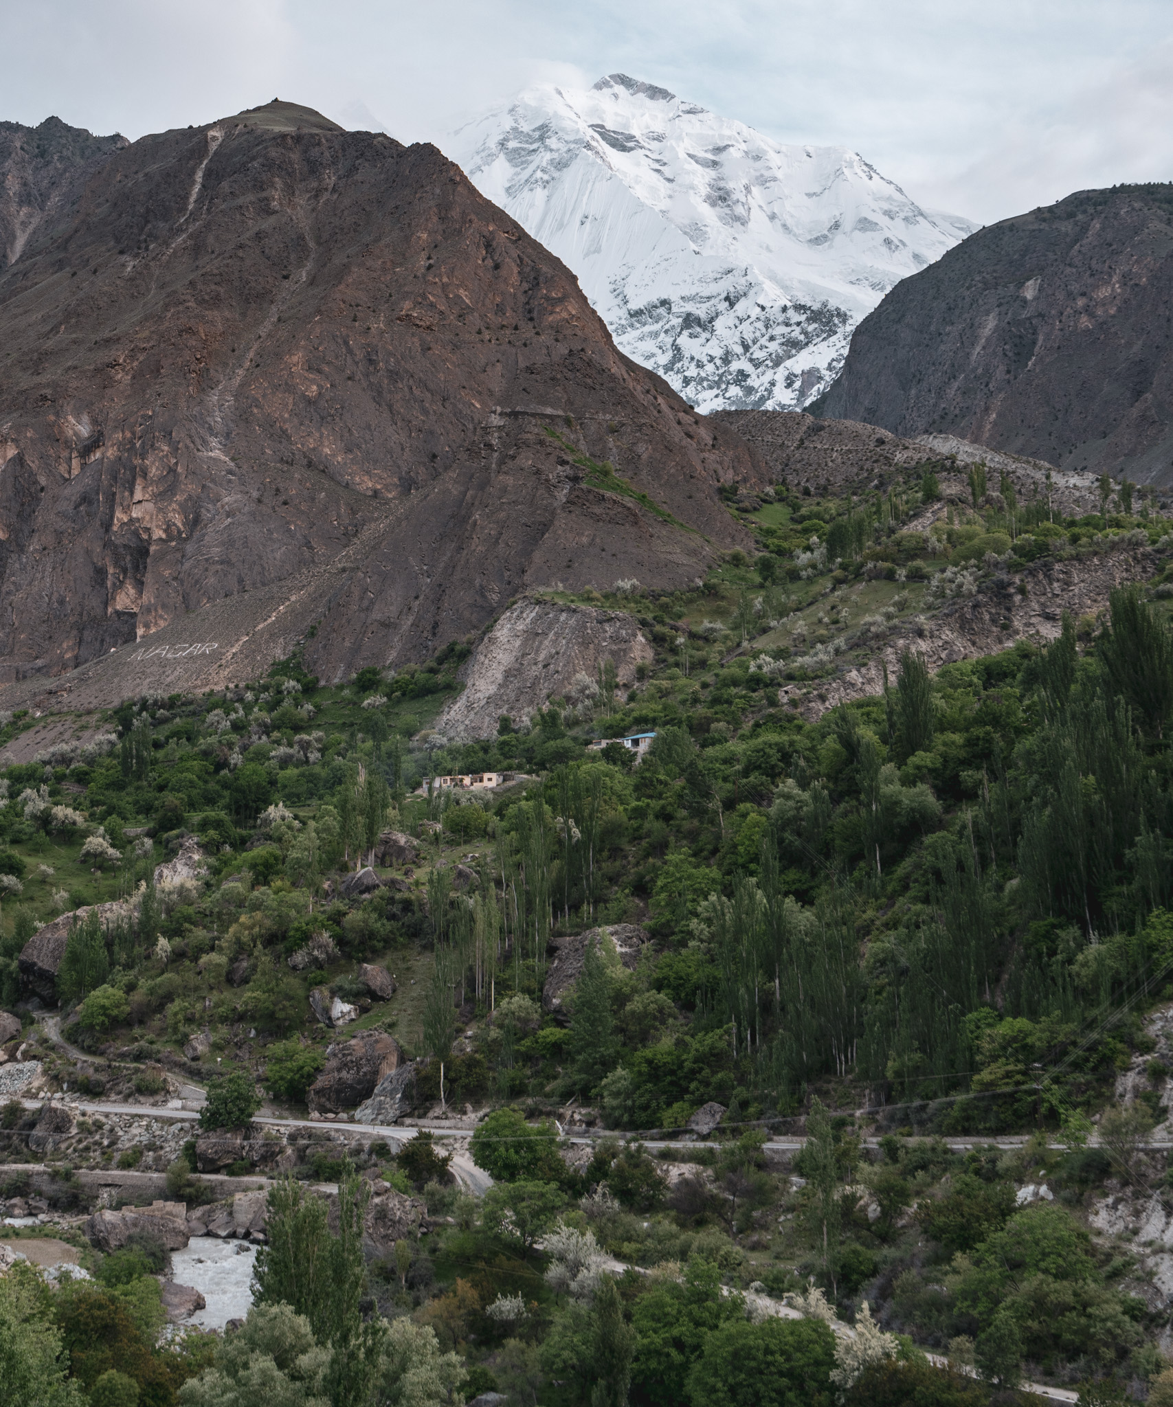
{"label": "snow-covered white mountain peak between two dark slopes", "polygon": [[617,73],[529,89],[446,144],[701,411],[798,409],[883,295],[977,227],[842,146],[783,146]]}

